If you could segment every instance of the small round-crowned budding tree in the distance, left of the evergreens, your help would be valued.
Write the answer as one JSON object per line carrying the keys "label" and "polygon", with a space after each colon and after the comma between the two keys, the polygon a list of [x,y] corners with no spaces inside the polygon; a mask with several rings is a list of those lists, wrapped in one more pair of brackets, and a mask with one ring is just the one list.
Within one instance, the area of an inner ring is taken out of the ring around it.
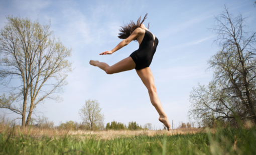
{"label": "small round-crowned budding tree in the distance, left of the evergreens", "polygon": [[104,114],[101,113],[101,107],[98,100],[86,100],[85,104],[79,110],[78,114],[85,124],[89,126],[91,130],[104,126],[103,119]]}

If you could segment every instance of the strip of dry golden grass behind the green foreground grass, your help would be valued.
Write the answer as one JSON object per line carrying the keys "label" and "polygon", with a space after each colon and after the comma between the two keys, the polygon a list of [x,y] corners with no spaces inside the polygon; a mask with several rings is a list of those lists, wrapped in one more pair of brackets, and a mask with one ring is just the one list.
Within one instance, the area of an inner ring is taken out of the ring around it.
{"label": "strip of dry golden grass behind the green foreground grass", "polygon": [[[13,127],[8,127],[7,132],[11,132]],[[0,132],[3,133],[6,129],[5,124],[0,124]],[[24,129],[20,129],[20,127],[16,126],[14,134],[19,135],[19,130],[23,135],[29,135],[31,137],[42,137],[42,136],[63,136],[67,135],[78,135],[86,138],[101,138],[101,139],[113,139],[116,137],[129,137],[134,135],[149,135],[153,136],[155,134],[185,134],[185,133],[195,133],[201,131],[201,128],[184,128],[184,129],[173,129],[171,131],[168,130],[100,130],[100,131],[89,131],[89,130],[65,130],[65,129],[57,129],[57,128],[37,128],[31,127],[29,131],[29,127],[25,127]]]}

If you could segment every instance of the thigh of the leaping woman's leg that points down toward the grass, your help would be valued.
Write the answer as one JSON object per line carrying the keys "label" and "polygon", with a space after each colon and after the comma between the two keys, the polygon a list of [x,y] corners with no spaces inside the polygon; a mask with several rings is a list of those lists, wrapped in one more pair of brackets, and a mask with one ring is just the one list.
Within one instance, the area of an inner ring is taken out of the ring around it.
{"label": "thigh of the leaping woman's leg that points down toward the grass", "polygon": [[148,90],[151,90],[152,88],[155,89],[154,76],[150,67],[146,67],[140,70],[136,69],[136,71]]}

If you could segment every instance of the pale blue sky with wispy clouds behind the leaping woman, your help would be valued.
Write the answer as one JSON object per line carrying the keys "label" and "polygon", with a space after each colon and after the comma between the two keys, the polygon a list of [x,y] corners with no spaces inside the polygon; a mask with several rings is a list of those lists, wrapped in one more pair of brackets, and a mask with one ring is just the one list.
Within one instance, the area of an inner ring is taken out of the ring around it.
{"label": "pale blue sky with wispy clouds behind the leaping woman", "polygon": [[[7,22],[7,15],[39,18],[41,24],[51,20],[54,35],[66,47],[72,47],[69,60],[74,70],[68,75],[65,92],[60,94],[64,101],[45,100],[37,106],[55,125],[59,121],[81,121],[78,110],[90,98],[100,102],[105,123],[136,121],[162,128],[135,70],[108,75],[89,65],[90,59],[112,65],[137,50],[139,44],[133,41],[112,55],[99,55],[121,41],[117,37],[120,25],[148,13],[145,23],[150,22],[149,30],[159,39],[150,67],[162,105],[177,127],[179,121],[188,121],[192,87],[198,82],[207,84],[212,78],[212,71],[205,70],[207,60],[220,48],[213,43],[215,33],[208,29],[214,24],[214,15],[227,4],[230,13],[248,16],[247,25],[255,31],[253,3],[254,0],[1,0],[0,28]],[[8,111],[0,111],[2,115],[5,112]]]}

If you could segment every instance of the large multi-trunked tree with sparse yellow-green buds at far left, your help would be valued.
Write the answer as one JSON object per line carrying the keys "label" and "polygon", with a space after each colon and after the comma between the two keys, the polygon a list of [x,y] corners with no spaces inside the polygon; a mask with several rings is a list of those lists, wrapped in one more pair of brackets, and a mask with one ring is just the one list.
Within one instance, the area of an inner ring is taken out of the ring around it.
{"label": "large multi-trunked tree with sparse yellow-green buds at far left", "polygon": [[0,31],[0,80],[8,93],[0,96],[0,108],[20,114],[24,127],[46,98],[61,101],[56,94],[63,91],[72,71],[67,60],[71,49],[53,36],[50,24],[28,17],[7,20]]}

